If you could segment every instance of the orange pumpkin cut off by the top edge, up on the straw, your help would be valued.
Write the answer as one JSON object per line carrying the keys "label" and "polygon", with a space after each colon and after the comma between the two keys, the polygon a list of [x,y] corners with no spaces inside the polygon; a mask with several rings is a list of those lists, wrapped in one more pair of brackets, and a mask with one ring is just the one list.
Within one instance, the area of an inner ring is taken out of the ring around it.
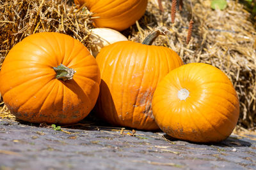
{"label": "orange pumpkin cut off by the top edge, up on the straw", "polygon": [[147,0],[75,0],[93,13],[95,27],[108,27],[123,31],[144,15]]}

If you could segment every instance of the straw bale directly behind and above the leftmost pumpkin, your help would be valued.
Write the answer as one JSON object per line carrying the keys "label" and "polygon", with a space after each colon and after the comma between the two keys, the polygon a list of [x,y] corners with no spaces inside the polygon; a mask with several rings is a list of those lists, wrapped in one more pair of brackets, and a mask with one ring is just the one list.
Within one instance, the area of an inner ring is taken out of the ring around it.
{"label": "straw bale directly behind and above the leftmost pumpkin", "polygon": [[65,33],[86,45],[90,16],[67,1],[0,1],[0,63],[12,46],[36,32]]}

